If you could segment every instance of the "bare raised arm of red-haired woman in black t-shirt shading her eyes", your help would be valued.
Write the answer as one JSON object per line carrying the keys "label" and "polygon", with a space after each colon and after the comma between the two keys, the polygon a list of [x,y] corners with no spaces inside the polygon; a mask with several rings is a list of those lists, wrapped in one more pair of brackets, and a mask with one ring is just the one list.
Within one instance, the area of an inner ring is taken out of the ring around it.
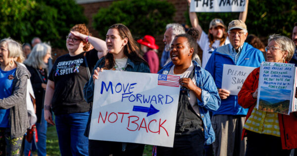
{"label": "bare raised arm of red-haired woman in black t-shirt shading her eyes", "polygon": [[105,41],[93,36],[87,36],[77,31],[70,31],[70,32],[74,36],[81,38],[84,42],[88,40],[89,43],[98,51],[98,58],[107,54],[107,47],[106,47]]}

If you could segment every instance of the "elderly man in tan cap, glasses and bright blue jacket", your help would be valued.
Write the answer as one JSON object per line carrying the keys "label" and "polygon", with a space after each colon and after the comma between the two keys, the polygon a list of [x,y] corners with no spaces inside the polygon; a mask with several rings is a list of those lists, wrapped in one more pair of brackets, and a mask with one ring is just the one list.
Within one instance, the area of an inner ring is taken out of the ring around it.
{"label": "elderly man in tan cap, glasses and bright blue jacket", "polygon": [[212,127],[215,132],[213,150],[215,156],[245,156],[246,140],[241,140],[247,109],[238,104],[238,97],[221,89],[223,65],[259,67],[265,61],[261,51],[245,43],[247,25],[241,20],[233,20],[228,26],[230,44],[212,52],[205,69],[212,75],[217,86],[221,105],[213,112]]}

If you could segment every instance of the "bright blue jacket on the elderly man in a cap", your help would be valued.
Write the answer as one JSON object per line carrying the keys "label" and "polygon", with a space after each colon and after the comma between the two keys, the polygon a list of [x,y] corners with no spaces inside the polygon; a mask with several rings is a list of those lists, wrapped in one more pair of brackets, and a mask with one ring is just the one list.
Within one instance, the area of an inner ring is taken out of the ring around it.
{"label": "bright blue jacket on the elderly man in a cap", "polygon": [[[209,71],[218,88],[222,87],[224,64],[259,67],[260,63],[265,61],[263,53],[247,43],[244,43],[243,49],[236,64],[234,59],[228,53],[228,45],[217,48],[215,51],[212,52],[205,66],[205,69]],[[217,111],[214,111],[213,115],[247,115],[247,110],[248,109],[245,109],[238,104],[237,96],[230,95],[227,99],[222,100],[219,109]]]}

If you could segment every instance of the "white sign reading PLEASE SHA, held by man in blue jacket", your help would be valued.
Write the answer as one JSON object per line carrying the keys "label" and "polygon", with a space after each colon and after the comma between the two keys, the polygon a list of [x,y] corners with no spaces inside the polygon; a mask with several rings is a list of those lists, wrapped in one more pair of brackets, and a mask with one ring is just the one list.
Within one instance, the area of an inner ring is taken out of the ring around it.
{"label": "white sign reading PLEASE SHA, held by man in blue jacket", "polygon": [[238,95],[248,74],[255,67],[224,64],[222,76],[222,89],[230,91],[230,95]]}

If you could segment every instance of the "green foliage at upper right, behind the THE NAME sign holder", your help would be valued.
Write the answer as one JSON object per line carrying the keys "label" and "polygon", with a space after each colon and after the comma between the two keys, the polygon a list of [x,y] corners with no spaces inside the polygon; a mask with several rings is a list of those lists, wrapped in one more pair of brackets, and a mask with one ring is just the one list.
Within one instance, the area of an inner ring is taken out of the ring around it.
{"label": "green foliage at upper right, behind the THE NAME sign holder", "polygon": [[[186,16],[189,17],[188,12]],[[213,18],[221,18],[228,27],[231,20],[239,18],[239,12],[199,12],[199,24],[206,33]],[[296,0],[249,0],[246,21],[249,34],[267,38],[268,35],[276,33],[291,38],[295,22],[297,22]],[[187,24],[191,25],[189,18]]]}

